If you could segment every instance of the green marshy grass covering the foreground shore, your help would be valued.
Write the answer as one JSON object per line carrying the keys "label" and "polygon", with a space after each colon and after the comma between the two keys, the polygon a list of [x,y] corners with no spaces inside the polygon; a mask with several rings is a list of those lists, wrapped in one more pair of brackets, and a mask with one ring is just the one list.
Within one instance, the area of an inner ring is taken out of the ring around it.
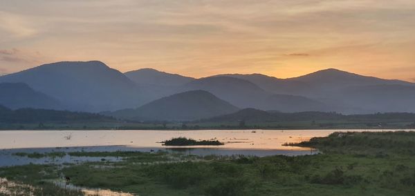
{"label": "green marshy grass covering the foreground shore", "polygon": [[333,133],[295,144],[324,152],[297,157],[80,152],[124,161],[0,168],[0,177],[41,186],[63,173],[78,186],[139,195],[414,195],[414,141],[413,132]]}

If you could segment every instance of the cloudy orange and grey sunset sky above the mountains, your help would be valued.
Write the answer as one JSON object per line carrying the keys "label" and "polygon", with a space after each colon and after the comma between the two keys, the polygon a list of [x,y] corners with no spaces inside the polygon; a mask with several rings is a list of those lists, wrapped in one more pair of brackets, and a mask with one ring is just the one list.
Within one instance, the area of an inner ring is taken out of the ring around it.
{"label": "cloudy orange and grey sunset sky above the mountains", "polygon": [[55,61],[127,72],[415,81],[413,0],[0,0],[0,75]]}

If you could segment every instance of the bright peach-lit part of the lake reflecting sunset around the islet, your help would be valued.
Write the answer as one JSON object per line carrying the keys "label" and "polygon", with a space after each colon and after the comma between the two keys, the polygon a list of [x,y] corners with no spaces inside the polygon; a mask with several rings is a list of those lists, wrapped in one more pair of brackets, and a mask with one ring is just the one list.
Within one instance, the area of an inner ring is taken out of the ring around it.
{"label": "bright peach-lit part of the lake reflecting sunset around the islet", "polygon": [[187,137],[218,139],[225,143],[224,146],[209,146],[210,148],[305,150],[282,144],[304,141],[311,137],[324,137],[336,131],[347,130],[3,130],[0,131],[0,149],[75,146],[165,148],[160,141],[173,137]]}

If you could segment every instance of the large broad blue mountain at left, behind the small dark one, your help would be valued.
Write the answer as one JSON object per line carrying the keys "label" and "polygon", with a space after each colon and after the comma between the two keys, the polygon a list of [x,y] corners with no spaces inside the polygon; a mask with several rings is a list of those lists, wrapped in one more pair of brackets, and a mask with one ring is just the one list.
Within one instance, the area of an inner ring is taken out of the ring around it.
{"label": "large broad blue mountain at left, behind the small dark one", "polygon": [[138,88],[100,61],[57,62],[0,77],[55,97],[70,110],[102,111],[139,106]]}

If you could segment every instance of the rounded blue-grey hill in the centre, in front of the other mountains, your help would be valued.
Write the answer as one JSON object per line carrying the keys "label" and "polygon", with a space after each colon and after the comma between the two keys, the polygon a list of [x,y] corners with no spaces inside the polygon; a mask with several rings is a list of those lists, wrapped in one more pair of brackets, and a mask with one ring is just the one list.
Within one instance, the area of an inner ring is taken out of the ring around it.
{"label": "rounded blue-grey hill in the centre, in front of the other mountains", "polygon": [[225,115],[239,110],[210,92],[192,90],[163,97],[136,109],[106,113],[120,119],[187,121]]}

